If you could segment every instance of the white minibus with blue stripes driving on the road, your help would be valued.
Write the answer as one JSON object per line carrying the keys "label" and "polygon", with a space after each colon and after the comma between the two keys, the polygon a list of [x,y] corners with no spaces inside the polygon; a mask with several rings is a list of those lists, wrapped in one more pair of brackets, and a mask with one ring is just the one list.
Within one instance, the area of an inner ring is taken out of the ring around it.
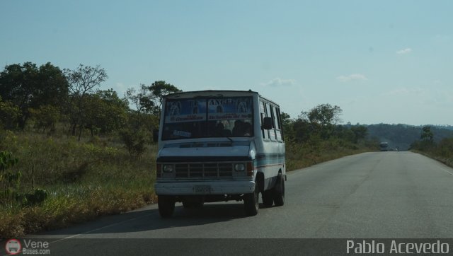
{"label": "white minibus with blue stripes driving on the road", "polygon": [[285,203],[285,142],[280,107],[254,91],[172,93],[155,134],[159,214],[205,202],[243,200],[245,213]]}

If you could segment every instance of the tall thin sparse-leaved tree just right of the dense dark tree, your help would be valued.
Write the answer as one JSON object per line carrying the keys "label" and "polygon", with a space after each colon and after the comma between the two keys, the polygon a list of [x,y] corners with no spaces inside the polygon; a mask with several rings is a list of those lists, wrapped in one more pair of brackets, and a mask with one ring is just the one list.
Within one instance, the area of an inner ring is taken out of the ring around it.
{"label": "tall thin sparse-leaved tree just right of the dense dark tree", "polygon": [[68,113],[71,120],[71,134],[76,135],[76,128],[79,127],[79,140],[81,130],[84,127],[84,112],[87,111],[85,98],[92,94],[96,86],[100,86],[108,76],[101,66],[84,66],[80,64],[76,69],[64,69],[64,74],[69,82]]}

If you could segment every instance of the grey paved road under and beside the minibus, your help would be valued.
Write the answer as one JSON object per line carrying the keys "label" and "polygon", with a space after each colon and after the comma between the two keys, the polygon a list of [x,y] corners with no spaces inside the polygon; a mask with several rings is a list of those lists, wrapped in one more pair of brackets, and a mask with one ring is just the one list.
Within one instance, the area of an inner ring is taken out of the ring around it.
{"label": "grey paved road under and beside the minibus", "polygon": [[176,204],[173,218],[161,219],[151,205],[33,237],[453,238],[452,196],[452,168],[411,152],[362,153],[289,172],[285,206],[257,216],[222,202]]}

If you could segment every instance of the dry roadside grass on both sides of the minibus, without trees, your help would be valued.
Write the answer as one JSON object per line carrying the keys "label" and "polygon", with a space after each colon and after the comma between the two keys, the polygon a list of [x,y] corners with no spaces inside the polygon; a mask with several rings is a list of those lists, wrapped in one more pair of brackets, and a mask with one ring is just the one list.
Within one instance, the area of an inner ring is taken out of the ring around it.
{"label": "dry roadside grass on both sides of the minibus, without trees", "polygon": [[[24,205],[11,200],[0,205],[0,238],[16,238],[120,214],[156,202],[156,145],[131,158],[115,137],[45,136],[33,132],[2,132],[0,151],[19,159],[22,173],[17,192],[42,189],[47,198]],[[295,144],[287,142],[287,170],[304,168],[355,153],[373,151],[343,140]]]}

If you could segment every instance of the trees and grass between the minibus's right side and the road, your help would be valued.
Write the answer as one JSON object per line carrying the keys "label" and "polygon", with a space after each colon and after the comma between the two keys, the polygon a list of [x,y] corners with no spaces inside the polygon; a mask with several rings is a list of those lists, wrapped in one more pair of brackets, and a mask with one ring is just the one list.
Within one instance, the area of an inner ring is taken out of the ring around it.
{"label": "trees and grass between the minibus's right side and the road", "polygon": [[287,170],[379,150],[377,139],[366,139],[367,127],[338,124],[342,112],[338,106],[321,104],[296,119],[282,114]]}

